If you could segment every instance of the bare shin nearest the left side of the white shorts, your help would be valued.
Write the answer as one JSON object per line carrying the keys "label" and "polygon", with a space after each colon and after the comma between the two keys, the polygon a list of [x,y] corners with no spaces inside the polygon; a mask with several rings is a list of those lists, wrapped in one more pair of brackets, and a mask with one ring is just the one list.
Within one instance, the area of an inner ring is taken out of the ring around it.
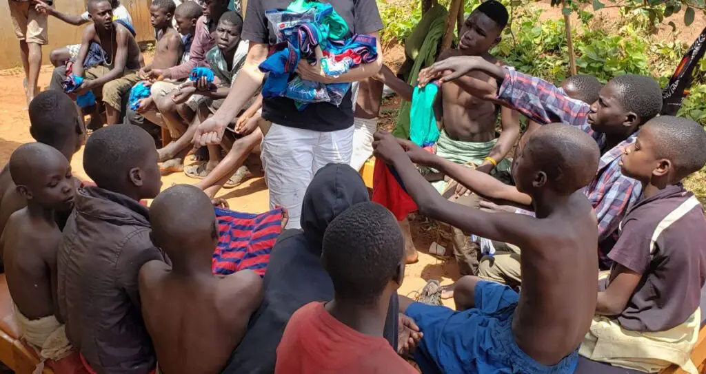
{"label": "bare shin nearest the left side of the white shorts", "polygon": [[263,138],[262,132],[259,128],[249,135],[245,135],[239,138],[233,143],[228,155],[222,159],[222,161],[208,173],[204,179],[196,183],[194,186],[200,188],[204,192],[208,191],[206,195],[210,198],[217,193],[220,188],[228,181],[228,179],[233,175],[239,167],[243,166],[243,162],[250,155],[250,152],[255,147],[258,147]]}

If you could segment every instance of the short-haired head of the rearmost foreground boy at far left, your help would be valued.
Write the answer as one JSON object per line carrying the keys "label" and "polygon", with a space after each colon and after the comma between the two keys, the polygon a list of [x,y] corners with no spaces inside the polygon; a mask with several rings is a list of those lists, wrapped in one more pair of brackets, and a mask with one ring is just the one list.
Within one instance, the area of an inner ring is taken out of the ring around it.
{"label": "short-haired head of the rearmost foreground boy at far left", "polygon": [[55,148],[83,133],[76,104],[59,90],[40,92],[30,102],[29,115],[32,138]]}

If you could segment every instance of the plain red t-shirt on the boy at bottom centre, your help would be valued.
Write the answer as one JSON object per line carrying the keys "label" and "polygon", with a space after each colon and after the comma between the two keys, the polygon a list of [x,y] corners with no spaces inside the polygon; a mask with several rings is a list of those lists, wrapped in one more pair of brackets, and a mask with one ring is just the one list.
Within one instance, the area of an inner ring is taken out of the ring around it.
{"label": "plain red t-shirt on the boy at bottom centre", "polygon": [[383,337],[361,334],[314,301],[294,312],[277,346],[275,374],[419,374]]}

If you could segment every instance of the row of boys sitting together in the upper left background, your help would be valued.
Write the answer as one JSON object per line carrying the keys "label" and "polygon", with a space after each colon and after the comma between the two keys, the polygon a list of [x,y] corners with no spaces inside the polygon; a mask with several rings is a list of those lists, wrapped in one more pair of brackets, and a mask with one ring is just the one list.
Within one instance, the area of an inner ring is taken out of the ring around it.
{"label": "row of boys sitting together in the upper left background", "polygon": [[[83,16],[42,7],[69,23],[80,24],[83,20]],[[97,102],[84,109],[91,114],[90,130],[103,123],[133,123],[156,139],[161,134],[155,130],[168,129],[165,133],[172,141],[158,150],[160,171],[169,174],[184,170],[193,129],[220,107],[244,64],[248,42],[240,38],[242,17],[229,11],[228,0],[203,1],[203,7],[196,1],[184,1],[179,6],[172,0],[153,1],[150,19],[157,45],[154,59],[145,65],[124,6],[116,1],[91,0],[87,13],[92,25],[85,29],[80,47],[52,52],[56,68],[50,88],[70,93],[80,105],[83,95],[93,93]],[[210,69],[213,79],[189,79],[194,68]],[[67,89],[66,81],[72,75],[85,80]],[[138,88],[143,96],[129,102],[131,90]],[[231,136],[221,146],[209,147],[208,157],[197,155],[203,162],[185,171],[187,176],[203,179],[196,186],[209,196],[222,186],[237,186],[251,175],[242,165],[251,150],[258,149],[262,138],[257,126],[261,100],[253,97],[251,102],[251,107],[234,121]],[[229,151],[226,157],[222,157],[221,147]]]}

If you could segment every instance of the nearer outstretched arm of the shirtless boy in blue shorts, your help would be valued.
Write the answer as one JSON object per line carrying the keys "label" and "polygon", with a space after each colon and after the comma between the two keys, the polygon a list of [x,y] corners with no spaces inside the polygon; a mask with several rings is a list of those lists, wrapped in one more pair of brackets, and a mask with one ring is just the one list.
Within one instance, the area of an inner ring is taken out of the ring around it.
{"label": "nearer outstretched arm of the shirtless boy in blue shorts", "polygon": [[487,213],[446,200],[419,174],[393,135],[376,133],[373,147],[376,157],[397,169],[407,193],[412,196],[414,203],[417,203],[422,215],[484,238],[515,244],[520,248],[529,247],[527,244],[534,240],[528,233],[532,233],[534,238],[541,238],[541,233],[546,232],[533,217],[514,213]]}

